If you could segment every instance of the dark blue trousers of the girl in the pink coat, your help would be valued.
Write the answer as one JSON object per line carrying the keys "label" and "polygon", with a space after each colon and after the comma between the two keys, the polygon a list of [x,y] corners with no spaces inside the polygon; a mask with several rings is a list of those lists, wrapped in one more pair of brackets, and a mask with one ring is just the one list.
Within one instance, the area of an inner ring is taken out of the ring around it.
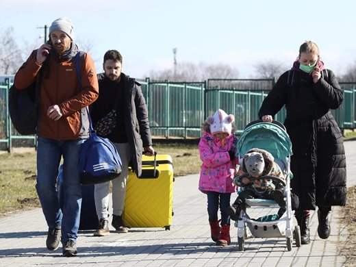
{"label": "dark blue trousers of the girl in the pink coat", "polygon": [[231,193],[207,192],[207,214],[209,222],[218,220],[218,209],[220,207],[221,225],[230,224],[230,216],[226,213],[226,208],[230,206]]}

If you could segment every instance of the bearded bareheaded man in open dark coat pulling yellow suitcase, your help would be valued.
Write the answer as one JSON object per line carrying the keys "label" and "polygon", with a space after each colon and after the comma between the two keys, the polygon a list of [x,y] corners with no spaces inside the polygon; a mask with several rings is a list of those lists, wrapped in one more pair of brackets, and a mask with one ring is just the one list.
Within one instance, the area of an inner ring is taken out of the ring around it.
{"label": "bearded bareheaded man in open dark coat pulling yellow suitcase", "polygon": [[[112,226],[118,233],[127,233],[121,214],[125,206],[126,181],[129,166],[139,177],[142,171],[142,148],[146,155],[153,155],[149,113],[140,84],[121,73],[123,58],[116,50],[104,55],[105,73],[98,75],[99,98],[91,106],[94,129],[99,136],[109,138],[115,145],[122,161],[123,172],[112,180]],[[105,118],[114,116],[114,125],[107,124]],[[101,132],[106,125],[107,132]],[[94,199],[99,218],[99,227],[94,236],[107,236],[110,181],[95,185]]]}

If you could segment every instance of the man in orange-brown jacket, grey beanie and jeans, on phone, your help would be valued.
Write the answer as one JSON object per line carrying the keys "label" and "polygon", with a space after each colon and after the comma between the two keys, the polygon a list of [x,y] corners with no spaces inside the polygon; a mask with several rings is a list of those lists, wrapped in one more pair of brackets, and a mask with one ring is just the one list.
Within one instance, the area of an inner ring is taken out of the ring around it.
{"label": "man in orange-brown jacket, grey beanie and jeans, on phone", "polygon": [[[47,249],[58,249],[62,242],[66,257],[77,254],[81,208],[79,152],[89,137],[86,106],[99,95],[94,62],[87,53],[80,58],[81,81],[78,81],[74,59],[79,49],[73,37],[73,23],[69,18],[53,21],[49,41],[31,53],[14,79],[19,90],[34,81],[40,82],[36,190],[49,227]],[[61,157],[65,188],[62,209],[56,190]]]}

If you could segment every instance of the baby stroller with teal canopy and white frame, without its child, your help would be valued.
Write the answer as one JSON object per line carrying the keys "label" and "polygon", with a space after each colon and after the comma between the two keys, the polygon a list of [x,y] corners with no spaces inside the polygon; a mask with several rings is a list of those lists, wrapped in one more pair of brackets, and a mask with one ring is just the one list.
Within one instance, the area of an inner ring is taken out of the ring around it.
{"label": "baby stroller with teal canopy and white frame, without its child", "polygon": [[293,227],[290,192],[290,178],[292,175],[290,173],[290,155],[292,155],[292,144],[284,125],[277,120],[274,120],[272,123],[256,120],[246,125],[238,140],[239,158],[253,148],[264,149],[271,153],[275,157],[275,162],[283,170],[285,181],[273,176],[262,178],[274,179],[283,184],[286,212],[281,218],[279,216],[275,216],[275,218],[273,216],[264,216],[254,220],[248,215],[250,207],[279,206],[274,200],[270,199],[246,199],[246,209],[241,210],[235,223],[236,227],[238,227],[239,250],[244,251],[244,240],[250,236],[255,238],[281,238],[285,236],[288,251],[291,251],[293,240],[295,240],[296,246],[301,246],[301,230],[298,225]]}

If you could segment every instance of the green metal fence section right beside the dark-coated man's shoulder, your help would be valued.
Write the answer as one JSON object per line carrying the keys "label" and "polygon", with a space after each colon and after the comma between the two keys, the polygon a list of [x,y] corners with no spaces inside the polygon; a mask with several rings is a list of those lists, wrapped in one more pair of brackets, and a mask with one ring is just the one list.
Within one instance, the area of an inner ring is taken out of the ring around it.
{"label": "green metal fence section right beside the dark-coated man's shoulder", "polygon": [[204,120],[205,82],[140,81],[152,136],[198,138]]}

